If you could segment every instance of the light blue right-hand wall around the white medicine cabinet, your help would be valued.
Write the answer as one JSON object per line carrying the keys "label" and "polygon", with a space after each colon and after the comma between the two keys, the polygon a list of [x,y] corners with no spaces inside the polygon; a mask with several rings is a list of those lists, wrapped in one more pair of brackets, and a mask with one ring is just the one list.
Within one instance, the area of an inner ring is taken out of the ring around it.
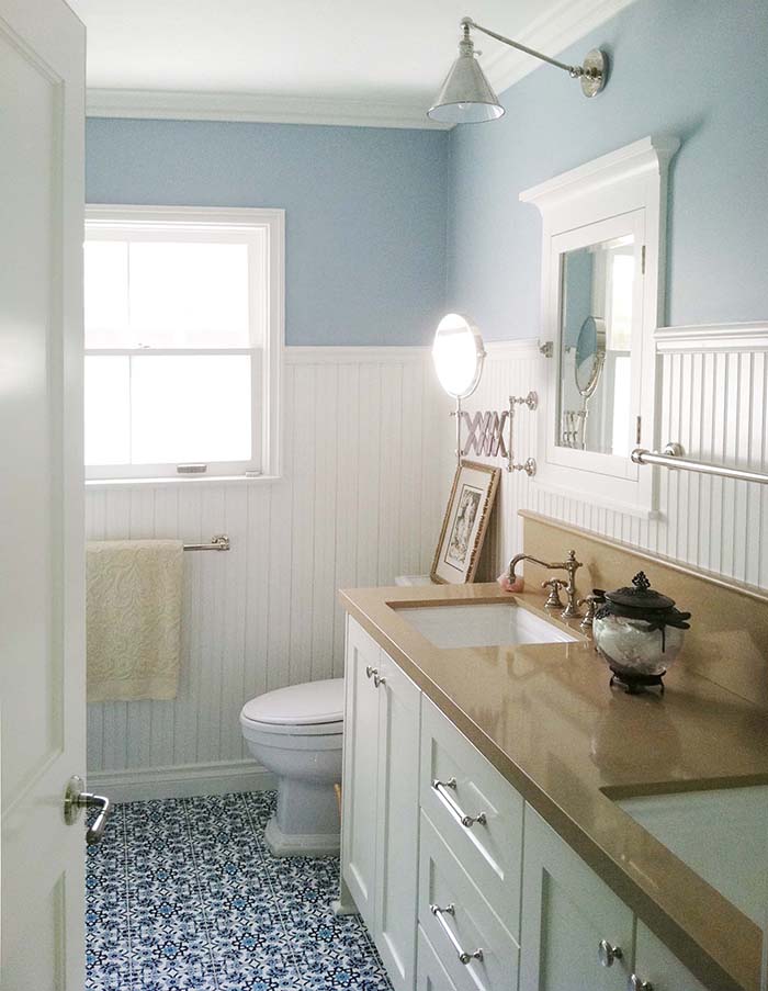
{"label": "light blue right-hand wall around the white medicine cabinet", "polygon": [[539,334],[541,221],[521,190],[652,133],[682,147],[670,187],[668,322],[768,317],[768,3],[637,0],[585,38],[613,63],[586,100],[542,66],[506,115],[450,137],[448,304],[487,339]]}

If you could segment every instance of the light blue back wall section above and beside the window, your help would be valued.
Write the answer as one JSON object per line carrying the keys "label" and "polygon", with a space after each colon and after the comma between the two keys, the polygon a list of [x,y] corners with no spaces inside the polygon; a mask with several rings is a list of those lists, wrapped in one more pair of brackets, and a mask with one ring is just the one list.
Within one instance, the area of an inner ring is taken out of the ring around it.
{"label": "light blue back wall section above and beside the window", "polygon": [[426,344],[443,311],[448,134],[91,120],[91,203],[286,211],[290,345]]}

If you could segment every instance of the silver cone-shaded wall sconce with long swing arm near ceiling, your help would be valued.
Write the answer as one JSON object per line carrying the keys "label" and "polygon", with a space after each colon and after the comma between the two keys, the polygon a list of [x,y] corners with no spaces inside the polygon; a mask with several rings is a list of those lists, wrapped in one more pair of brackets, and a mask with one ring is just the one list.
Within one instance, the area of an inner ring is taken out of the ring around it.
{"label": "silver cone-shaded wall sconce with long swing arm near ceiling", "polygon": [[[585,97],[596,97],[606,86],[608,77],[608,56],[599,48],[592,48],[587,53],[584,65],[569,66],[549,55],[542,55],[527,45],[513,42],[502,34],[496,34],[482,24],[476,24],[472,18],[462,18],[462,37],[459,42],[459,58],[451,66],[445,81],[437,95],[434,103],[427,111],[427,116],[443,124],[478,124],[483,121],[496,121],[504,114],[504,106],[485,78],[485,72],[475,57],[475,45],[470,36],[470,29],[482,31],[488,37],[496,38],[518,52],[532,55],[542,61],[549,63],[558,69],[566,71],[572,79],[578,79],[581,83],[581,92]],[[479,54],[479,53],[477,53]]]}

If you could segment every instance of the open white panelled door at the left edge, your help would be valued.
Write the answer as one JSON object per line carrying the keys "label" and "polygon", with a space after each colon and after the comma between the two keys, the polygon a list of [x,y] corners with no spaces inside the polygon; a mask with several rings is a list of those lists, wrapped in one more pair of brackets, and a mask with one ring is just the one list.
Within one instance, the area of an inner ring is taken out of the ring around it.
{"label": "open white panelled door at the left edge", "polygon": [[0,745],[3,991],[82,991],[84,29],[0,0]]}

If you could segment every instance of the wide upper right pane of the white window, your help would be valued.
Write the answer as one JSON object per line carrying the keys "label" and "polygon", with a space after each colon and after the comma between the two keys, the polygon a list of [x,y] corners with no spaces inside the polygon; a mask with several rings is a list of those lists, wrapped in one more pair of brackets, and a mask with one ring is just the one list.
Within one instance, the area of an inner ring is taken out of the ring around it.
{"label": "wide upper right pane of the white window", "polygon": [[132,243],[135,346],[247,348],[248,246]]}

